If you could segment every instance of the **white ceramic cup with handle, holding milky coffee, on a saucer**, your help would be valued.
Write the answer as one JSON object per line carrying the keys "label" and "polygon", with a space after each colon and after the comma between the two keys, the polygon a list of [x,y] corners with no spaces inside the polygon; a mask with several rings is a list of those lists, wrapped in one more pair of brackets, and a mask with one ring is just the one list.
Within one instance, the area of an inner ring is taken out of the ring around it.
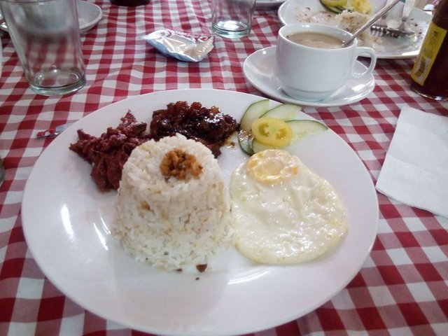
{"label": "white ceramic cup with handle, holding milky coffee, on a saucer", "polygon": [[[274,74],[281,88],[290,97],[317,101],[329,97],[351,78],[371,76],[377,56],[372,48],[358,47],[356,39],[344,48],[324,49],[300,45],[287,36],[314,32],[346,41],[351,34],[342,29],[318,23],[295,23],[281,27],[276,47]],[[370,65],[363,73],[355,71],[356,59],[370,56]]]}

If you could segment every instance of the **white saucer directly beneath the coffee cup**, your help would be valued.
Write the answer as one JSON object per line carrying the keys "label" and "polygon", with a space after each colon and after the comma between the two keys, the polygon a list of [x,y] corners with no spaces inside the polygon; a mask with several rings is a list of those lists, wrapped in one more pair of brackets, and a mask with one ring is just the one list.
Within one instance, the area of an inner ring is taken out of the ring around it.
{"label": "white saucer directly beneath the coffee cup", "polygon": [[[374,76],[363,79],[349,79],[345,85],[330,97],[317,102],[295,99],[281,90],[279,80],[274,76],[275,46],[253,52],[244,62],[246,79],[261,92],[280,102],[304,106],[342,106],[359,102],[372,92],[375,86]],[[367,68],[356,61],[355,71],[362,73]]]}

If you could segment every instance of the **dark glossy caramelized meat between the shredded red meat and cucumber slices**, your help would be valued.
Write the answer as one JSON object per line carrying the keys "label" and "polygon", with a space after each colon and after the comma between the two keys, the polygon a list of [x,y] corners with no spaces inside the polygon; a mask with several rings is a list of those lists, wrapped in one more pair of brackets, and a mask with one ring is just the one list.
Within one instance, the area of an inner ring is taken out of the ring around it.
{"label": "dark glossy caramelized meat between the shredded red meat and cucumber slices", "polygon": [[221,154],[220,147],[238,130],[237,120],[212,106],[210,109],[198,102],[176,102],[167,109],[154,111],[151,121],[151,139],[171,137],[180,133],[188,139],[207,146],[215,158]]}

